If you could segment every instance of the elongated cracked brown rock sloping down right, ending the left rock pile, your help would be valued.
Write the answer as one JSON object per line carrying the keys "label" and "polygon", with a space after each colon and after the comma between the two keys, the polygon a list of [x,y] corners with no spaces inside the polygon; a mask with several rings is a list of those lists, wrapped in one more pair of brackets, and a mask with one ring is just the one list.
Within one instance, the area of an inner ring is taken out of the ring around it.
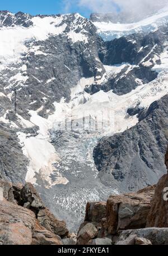
{"label": "elongated cracked brown rock sloping down right, ending the left rock pile", "polygon": [[68,236],[69,231],[66,227],[66,222],[57,220],[49,209],[40,209],[38,220],[41,226],[53,232],[55,235],[59,235],[62,238]]}

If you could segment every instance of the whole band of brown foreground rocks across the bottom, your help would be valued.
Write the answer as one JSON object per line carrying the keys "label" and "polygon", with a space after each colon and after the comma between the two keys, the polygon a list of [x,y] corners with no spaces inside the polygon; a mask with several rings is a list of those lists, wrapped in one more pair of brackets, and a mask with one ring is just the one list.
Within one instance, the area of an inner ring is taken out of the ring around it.
{"label": "whole band of brown foreground rocks across the bottom", "polygon": [[[168,149],[168,148],[167,148]],[[168,150],[165,164],[168,165]],[[137,193],[87,203],[77,236],[47,209],[30,183],[0,181],[0,244],[157,245],[168,244],[168,174]]]}

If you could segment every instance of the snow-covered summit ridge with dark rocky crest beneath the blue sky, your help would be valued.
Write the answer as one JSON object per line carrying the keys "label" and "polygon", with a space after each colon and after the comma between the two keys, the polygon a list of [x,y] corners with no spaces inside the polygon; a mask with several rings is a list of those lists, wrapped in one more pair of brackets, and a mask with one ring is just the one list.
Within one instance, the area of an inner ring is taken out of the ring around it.
{"label": "snow-covered summit ridge with dark rocky crest beneath the blue sky", "polygon": [[31,16],[0,11],[0,61],[3,65],[16,63],[21,54],[29,51],[27,42],[43,41],[50,36],[62,34],[72,43],[88,43],[92,28],[95,29],[92,22],[78,13]]}

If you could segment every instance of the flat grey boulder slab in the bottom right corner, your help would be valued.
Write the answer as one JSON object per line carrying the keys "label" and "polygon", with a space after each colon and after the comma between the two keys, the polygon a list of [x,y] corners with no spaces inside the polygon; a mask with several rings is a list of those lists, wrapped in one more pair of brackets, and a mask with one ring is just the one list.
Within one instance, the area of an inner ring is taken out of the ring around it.
{"label": "flat grey boulder slab in the bottom right corner", "polygon": [[[168,228],[158,228],[158,227],[150,227],[150,228],[148,227],[148,228],[141,228],[136,230],[124,230],[120,233],[118,242],[116,244],[122,244],[122,243],[125,244],[125,240],[127,239],[129,240],[130,236],[133,237],[133,235],[136,237],[141,237],[149,240],[152,245],[168,244]],[[135,243],[138,243],[139,240],[136,237],[135,237]]]}

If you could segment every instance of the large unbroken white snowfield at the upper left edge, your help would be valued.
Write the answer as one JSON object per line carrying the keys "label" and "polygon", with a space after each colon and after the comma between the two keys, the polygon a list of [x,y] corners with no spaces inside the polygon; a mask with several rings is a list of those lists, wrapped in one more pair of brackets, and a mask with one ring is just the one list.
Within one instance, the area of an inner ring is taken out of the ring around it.
{"label": "large unbroken white snowfield at the upper left edge", "polygon": [[2,65],[16,63],[21,55],[27,52],[26,42],[33,40],[46,40],[50,35],[59,35],[66,29],[67,24],[61,24],[63,17],[33,17],[34,26],[24,28],[15,26],[14,28],[0,29],[0,61]]}

